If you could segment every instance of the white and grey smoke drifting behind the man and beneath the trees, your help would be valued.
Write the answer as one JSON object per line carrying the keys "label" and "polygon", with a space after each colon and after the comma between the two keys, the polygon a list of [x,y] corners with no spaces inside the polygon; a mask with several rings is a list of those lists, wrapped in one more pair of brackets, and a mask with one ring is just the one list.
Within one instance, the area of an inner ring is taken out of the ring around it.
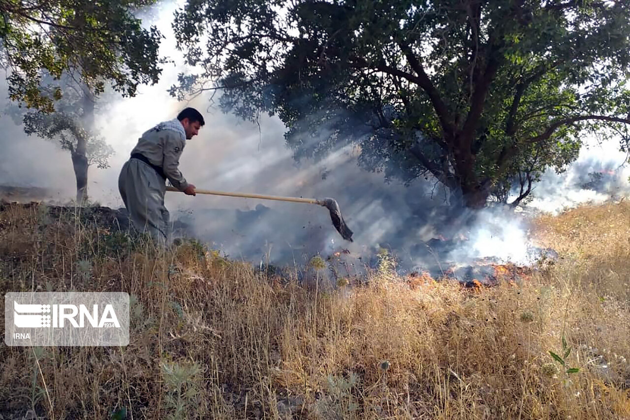
{"label": "white and grey smoke drifting behind the man and beneath the trees", "polygon": [[[232,258],[255,264],[302,265],[314,255],[329,257],[343,251],[358,265],[369,263],[384,249],[396,255],[404,269],[442,269],[448,262],[481,258],[530,262],[525,213],[502,208],[475,213],[462,210],[461,224],[449,225],[452,219],[445,211],[444,188],[433,182],[421,178],[408,187],[398,182],[386,184],[382,173],[358,167],[357,150],[352,146],[336,149],[321,161],[297,165],[284,142],[285,127],[277,118],[261,117],[260,125],[251,124],[210,108],[208,95],[190,103],[169,96],[167,89],[186,70],[170,26],[176,7],[175,3],[162,4],[151,11],[157,16],[152,23],[166,36],[162,52],[175,64],[164,67],[156,86],[141,86],[134,98],[110,100],[100,108],[96,127],[116,153],[110,158],[110,168],[89,170],[93,201],[122,207],[118,173],[138,137],[158,122],[173,119],[181,108],[193,106],[202,111],[206,124],[188,141],[180,160],[181,172],[189,182],[200,189],[332,197],[355,232],[354,242],[344,241],[333,228],[328,211],[312,204],[168,192],[166,206],[175,227]],[[74,174],[69,153],[36,137],[27,138],[21,127],[8,117],[3,119],[0,184],[49,187],[71,199]],[[527,208],[557,213],[590,199],[603,201],[611,191],[626,191],[629,174],[617,170],[624,156],[615,146],[609,144],[602,151],[585,149],[562,175],[547,172]]]}

